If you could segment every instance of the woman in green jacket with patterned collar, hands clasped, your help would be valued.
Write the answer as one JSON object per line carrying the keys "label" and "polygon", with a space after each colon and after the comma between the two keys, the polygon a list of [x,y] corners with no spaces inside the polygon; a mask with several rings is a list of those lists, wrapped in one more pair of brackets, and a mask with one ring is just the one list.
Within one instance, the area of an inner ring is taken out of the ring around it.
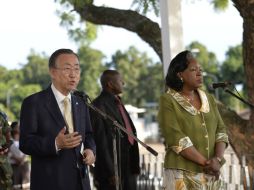
{"label": "woman in green jacket with patterned collar, hands clasped", "polygon": [[228,144],[212,95],[201,90],[202,69],[190,51],[170,63],[167,91],[160,97],[159,126],[166,143],[166,190],[220,190]]}

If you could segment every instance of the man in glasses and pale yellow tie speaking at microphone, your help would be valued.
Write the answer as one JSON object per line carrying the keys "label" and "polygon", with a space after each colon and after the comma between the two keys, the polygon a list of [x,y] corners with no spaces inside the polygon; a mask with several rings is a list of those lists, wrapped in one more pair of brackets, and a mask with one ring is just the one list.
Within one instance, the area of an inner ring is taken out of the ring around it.
{"label": "man in glasses and pale yellow tie speaking at microphone", "polygon": [[56,50],[49,73],[52,84],[21,107],[20,149],[32,158],[31,190],[89,190],[87,165],[96,150],[88,107],[71,94],[80,79],[78,55]]}

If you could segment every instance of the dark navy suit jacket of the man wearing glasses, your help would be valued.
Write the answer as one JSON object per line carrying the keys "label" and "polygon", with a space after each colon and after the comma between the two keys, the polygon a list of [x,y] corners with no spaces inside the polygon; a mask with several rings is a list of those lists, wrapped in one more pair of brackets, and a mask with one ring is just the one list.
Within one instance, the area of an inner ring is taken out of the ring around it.
{"label": "dark navy suit jacket of the man wearing glasses", "polygon": [[[95,152],[89,110],[80,98],[71,98],[75,131],[82,135],[84,149]],[[81,146],[56,152],[55,138],[63,127],[64,118],[51,87],[24,99],[20,115],[20,149],[32,158],[31,190],[90,189]]]}

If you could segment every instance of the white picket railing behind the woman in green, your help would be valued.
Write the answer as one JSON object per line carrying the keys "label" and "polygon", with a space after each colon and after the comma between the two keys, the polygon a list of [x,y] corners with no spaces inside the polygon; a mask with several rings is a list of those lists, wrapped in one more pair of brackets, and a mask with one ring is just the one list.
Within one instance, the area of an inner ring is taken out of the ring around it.
{"label": "white picket railing behind the woman in green", "polygon": [[[159,190],[162,187],[164,146],[158,144],[149,146],[158,152],[158,156],[155,157],[141,148],[141,173],[138,176],[138,190]],[[225,182],[225,190],[251,190],[253,179],[249,173],[253,173],[253,171],[249,171],[246,165],[246,157],[242,156],[240,162],[231,147],[226,150],[224,157],[226,163],[221,168],[221,175]],[[91,185],[93,186],[92,179]],[[92,189],[96,190],[95,187]]]}

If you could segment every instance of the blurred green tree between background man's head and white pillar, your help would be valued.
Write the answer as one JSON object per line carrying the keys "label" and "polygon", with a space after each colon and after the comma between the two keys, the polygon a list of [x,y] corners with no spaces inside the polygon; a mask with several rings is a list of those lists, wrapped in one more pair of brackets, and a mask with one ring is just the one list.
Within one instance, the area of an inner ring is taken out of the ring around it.
{"label": "blurred green tree between background man's head and white pillar", "polygon": [[129,47],[125,52],[117,51],[106,66],[121,73],[125,82],[124,102],[139,107],[158,102],[163,89],[161,63],[154,63],[146,53]]}

